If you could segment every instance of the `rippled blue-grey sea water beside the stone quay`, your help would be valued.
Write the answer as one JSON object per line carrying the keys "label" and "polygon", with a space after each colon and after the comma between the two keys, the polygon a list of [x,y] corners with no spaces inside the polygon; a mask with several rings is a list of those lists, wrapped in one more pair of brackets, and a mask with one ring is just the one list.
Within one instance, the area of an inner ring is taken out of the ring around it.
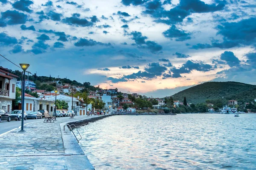
{"label": "rippled blue-grey sea water beside the stone quay", "polygon": [[256,114],[116,115],[79,132],[96,170],[256,170]]}

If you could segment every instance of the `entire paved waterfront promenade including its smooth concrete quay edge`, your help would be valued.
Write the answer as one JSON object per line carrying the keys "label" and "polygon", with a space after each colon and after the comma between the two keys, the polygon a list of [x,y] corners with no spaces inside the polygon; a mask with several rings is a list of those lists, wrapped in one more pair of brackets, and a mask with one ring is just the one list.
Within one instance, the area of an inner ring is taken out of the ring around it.
{"label": "entire paved waterfront promenade including its smooth concrete quay edge", "polygon": [[[0,137],[0,170],[93,170],[64,122],[99,116],[75,116],[55,123],[35,122]],[[62,127],[60,127],[60,124]],[[68,130],[68,131],[67,131]]]}

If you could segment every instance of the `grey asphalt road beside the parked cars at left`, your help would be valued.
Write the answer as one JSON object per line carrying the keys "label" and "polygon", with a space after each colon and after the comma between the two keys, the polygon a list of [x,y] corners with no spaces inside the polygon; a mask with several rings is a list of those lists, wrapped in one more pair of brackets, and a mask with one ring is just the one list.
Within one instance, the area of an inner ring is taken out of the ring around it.
{"label": "grey asphalt road beside the parked cars at left", "polygon": [[[58,119],[69,119],[69,117],[56,118],[56,119],[58,121]],[[42,119],[27,119],[26,121],[24,121],[24,124],[31,123],[31,122],[37,122],[37,121],[41,121],[43,123],[44,118],[42,118]],[[18,128],[20,126],[21,126],[21,121],[15,121],[15,120],[12,120],[10,122],[1,121],[0,122],[0,135],[8,132],[10,130],[13,130],[15,128]]]}

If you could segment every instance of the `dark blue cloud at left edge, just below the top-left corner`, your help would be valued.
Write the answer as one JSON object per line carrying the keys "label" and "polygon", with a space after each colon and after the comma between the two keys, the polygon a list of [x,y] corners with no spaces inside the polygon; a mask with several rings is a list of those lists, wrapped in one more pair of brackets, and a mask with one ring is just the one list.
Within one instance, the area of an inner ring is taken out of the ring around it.
{"label": "dark blue cloud at left edge, just below the top-left corner", "polygon": [[1,12],[2,18],[0,20],[5,20],[5,19],[9,19],[7,20],[7,24],[8,25],[15,25],[15,24],[24,24],[26,23],[27,20],[27,15],[20,13],[16,10],[14,11],[6,11],[6,12]]}

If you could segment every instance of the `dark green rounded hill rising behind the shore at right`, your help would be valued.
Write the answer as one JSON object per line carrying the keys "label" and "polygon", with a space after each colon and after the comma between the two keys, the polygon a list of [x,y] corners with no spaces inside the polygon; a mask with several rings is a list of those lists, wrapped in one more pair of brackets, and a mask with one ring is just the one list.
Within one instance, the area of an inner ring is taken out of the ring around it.
{"label": "dark green rounded hill rising behind the shore at right", "polygon": [[223,104],[227,100],[239,102],[250,102],[256,98],[256,85],[239,82],[206,82],[190,87],[172,96],[174,100],[183,101],[186,97],[187,103],[205,103],[206,100],[221,100]]}

